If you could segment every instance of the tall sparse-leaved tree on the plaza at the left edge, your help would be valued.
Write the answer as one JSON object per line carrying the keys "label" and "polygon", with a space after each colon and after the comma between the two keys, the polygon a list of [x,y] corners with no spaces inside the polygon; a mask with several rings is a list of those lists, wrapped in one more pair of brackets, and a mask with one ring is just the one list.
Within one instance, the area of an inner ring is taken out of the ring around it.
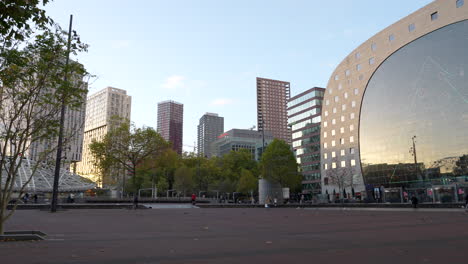
{"label": "tall sparse-leaved tree on the plaza at the left edge", "polygon": [[[0,8],[5,8],[4,2]],[[17,2],[23,4],[24,1]],[[21,18],[14,21],[21,21]],[[14,21],[3,23],[14,25]],[[17,26],[21,28],[20,24]],[[16,35],[8,35],[11,30],[7,30],[7,33],[0,31],[2,38],[16,38]],[[13,209],[6,212],[13,192],[23,195],[37,166],[42,165],[49,154],[56,150],[62,98],[66,99],[64,103],[68,110],[81,109],[86,98],[83,77],[88,73],[85,68],[76,62],[67,67],[64,64],[67,55],[66,35],[57,26],[55,30],[37,34],[33,41],[23,43],[21,47],[7,49],[3,46],[0,52],[0,234],[3,233],[4,222],[17,206],[18,200]],[[86,48],[85,44],[73,40],[71,53],[84,52]],[[65,75],[68,81],[64,81]],[[64,144],[73,136],[73,133],[66,135]],[[51,147],[39,153],[29,179],[15,187],[23,156],[27,155],[32,144],[38,142],[50,142]]]}

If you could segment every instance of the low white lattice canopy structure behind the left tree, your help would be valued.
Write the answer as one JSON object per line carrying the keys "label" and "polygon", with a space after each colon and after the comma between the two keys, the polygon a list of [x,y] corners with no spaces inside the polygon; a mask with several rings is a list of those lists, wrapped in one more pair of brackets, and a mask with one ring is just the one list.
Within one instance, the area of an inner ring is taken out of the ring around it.
{"label": "low white lattice canopy structure behind the left tree", "polygon": [[[18,170],[18,175],[15,179],[14,189],[19,191],[21,187],[29,180],[33,169],[38,166],[31,181],[26,185],[25,192],[52,192],[54,185],[54,167],[49,164],[36,164],[36,162],[23,158],[21,167]],[[3,175],[2,185],[5,183],[7,172],[2,168]],[[96,187],[96,184],[90,182],[80,175],[74,174],[67,170],[60,170],[59,192],[83,192]]]}

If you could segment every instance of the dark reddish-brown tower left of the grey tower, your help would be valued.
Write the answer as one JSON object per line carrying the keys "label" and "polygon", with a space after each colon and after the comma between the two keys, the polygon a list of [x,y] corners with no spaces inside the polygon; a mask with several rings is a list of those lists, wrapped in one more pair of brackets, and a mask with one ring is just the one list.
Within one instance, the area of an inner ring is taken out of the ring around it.
{"label": "dark reddish-brown tower left of the grey tower", "polygon": [[158,132],[178,154],[182,154],[183,124],[183,104],[170,100],[158,103]]}

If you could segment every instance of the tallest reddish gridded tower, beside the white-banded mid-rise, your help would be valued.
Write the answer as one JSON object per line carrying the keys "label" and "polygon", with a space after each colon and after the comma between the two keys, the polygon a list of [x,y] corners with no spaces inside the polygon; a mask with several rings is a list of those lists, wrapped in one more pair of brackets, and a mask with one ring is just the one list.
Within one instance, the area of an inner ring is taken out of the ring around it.
{"label": "tallest reddish gridded tower, beside the white-banded mid-rise", "polygon": [[291,143],[288,127],[287,102],[290,97],[289,82],[257,77],[258,130],[270,131],[274,138]]}

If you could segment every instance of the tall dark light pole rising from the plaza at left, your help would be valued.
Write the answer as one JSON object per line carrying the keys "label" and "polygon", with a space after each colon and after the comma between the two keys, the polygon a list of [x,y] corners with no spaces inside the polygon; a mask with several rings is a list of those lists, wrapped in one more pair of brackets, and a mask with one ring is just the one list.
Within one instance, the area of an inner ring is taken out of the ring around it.
{"label": "tall dark light pole rising from the plaza at left", "polygon": [[[73,15],[70,15],[70,25],[68,27],[68,43],[67,43],[67,57],[65,60],[65,74],[63,77],[64,85],[68,81],[68,63],[70,60],[70,44],[71,44],[71,32],[72,32]],[[62,108],[60,111],[60,128],[58,135],[57,144],[57,157],[55,159],[55,173],[54,173],[54,186],[52,190],[52,202],[50,204],[50,211],[52,213],[57,211],[57,196],[58,196],[58,184],[60,179],[60,165],[62,162],[62,148],[63,148],[63,130],[65,123],[65,91],[62,94]]]}

